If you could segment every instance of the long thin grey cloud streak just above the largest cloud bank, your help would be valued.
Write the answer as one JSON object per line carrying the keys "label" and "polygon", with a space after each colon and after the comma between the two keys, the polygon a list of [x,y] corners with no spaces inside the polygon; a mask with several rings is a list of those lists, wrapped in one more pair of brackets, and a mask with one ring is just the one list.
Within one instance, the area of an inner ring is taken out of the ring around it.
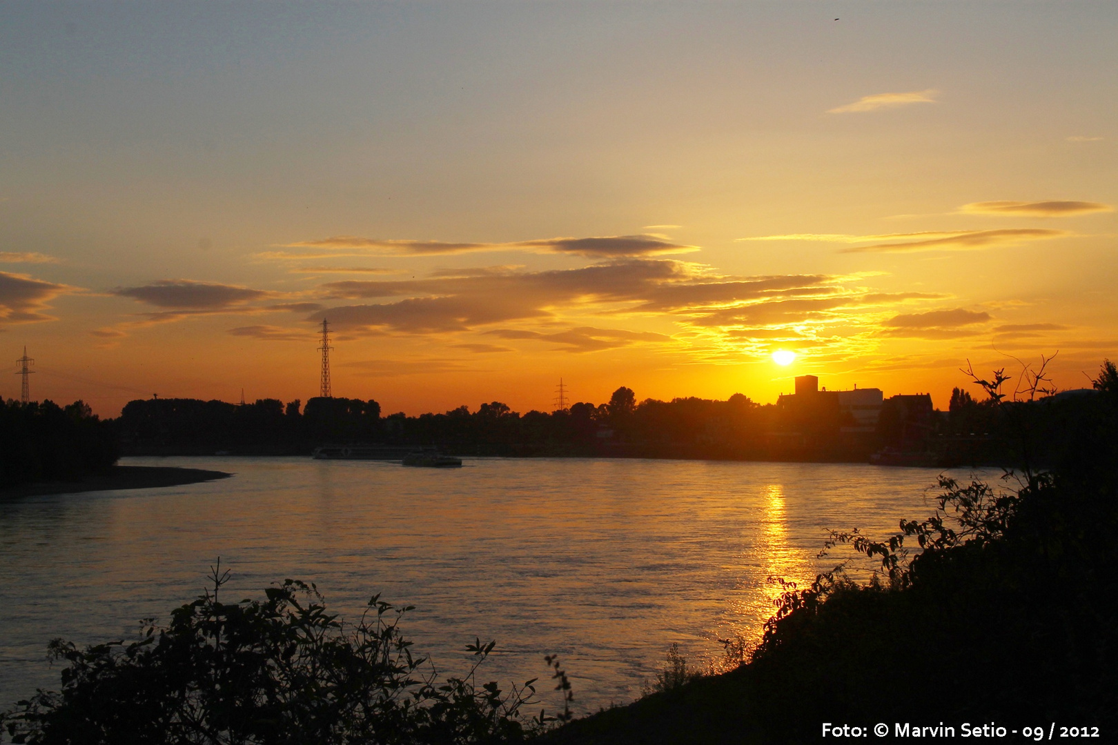
{"label": "long thin grey cloud streak just above the largest cloud bank", "polygon": [[[605,236],[596,238],[541,238],[504,243],[465,243],[440,240],[402,240],[363,238],[361,236],[332,236],[319,240],[286,243],[284,248],[319,248],[328,251],[361,250],[389,256],[446,256],[476,251],[533,251],[566,254],[593,258],[634,258],[665,254],[689,254],[698,246],[675,243],[663,236]],[[258,254],[259,258],[309,258],[307,255],[288,255],[278,251]],[[342,256],[342,254],[334,254]]]}

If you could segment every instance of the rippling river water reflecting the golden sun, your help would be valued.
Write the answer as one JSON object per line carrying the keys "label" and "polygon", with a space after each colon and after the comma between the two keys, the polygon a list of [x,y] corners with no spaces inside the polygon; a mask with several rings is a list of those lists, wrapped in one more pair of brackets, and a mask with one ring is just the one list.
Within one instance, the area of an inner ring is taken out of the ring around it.
{"label": "rippling river water reflecting the golden sun", "polygon": [[498,642],[485,680],[546,677],[543,656],[558,653],[576,711],[596,710],[639,696],[673,642],[700,663],[718,657],[720,638],[756,639],[779,593],[767,577],[805,583],[836,562],[817,557],[827,528],[883,536],[930,514],[937,494],[935,470],[868,465],[122,464],[235,476],[0,504],[0,708],[57,689],[51,638],[106,641],[134,634],[141,618],[165,620],[220,556],[230,596],[294,577],[350,618],[376,592],[415,605],[405,636],[443,670],[462,669],[475,637]]}

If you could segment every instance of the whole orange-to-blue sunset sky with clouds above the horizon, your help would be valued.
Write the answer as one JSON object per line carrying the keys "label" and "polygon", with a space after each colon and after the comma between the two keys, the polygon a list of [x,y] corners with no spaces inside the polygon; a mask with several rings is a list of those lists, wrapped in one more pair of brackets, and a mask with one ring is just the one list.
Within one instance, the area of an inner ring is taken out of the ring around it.
{"label": "whole orange-to-blue sunset sky with clouds above the horizon", "polygon": [[105,416],[305,401],[323,317],[386,413],[805,373],[946,408],[1057,351],[1082,388],[1116,39],[1112,1],[6,2],[0,347]]}

